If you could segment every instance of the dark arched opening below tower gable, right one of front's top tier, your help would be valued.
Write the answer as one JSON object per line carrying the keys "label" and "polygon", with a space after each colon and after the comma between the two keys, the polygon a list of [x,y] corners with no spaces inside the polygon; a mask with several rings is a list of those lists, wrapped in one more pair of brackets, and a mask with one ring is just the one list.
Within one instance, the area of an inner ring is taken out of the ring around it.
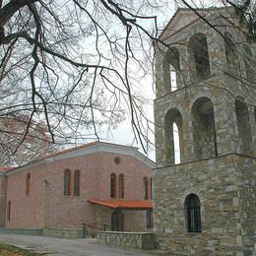
{"label": "dark arched opening below tower gable, right one of front's top tier", "polygon": [[197,78],[210,76],[210,61],[208,54],[207,38],[204,33],[196,33],[189,40],[189,55],[192,75]]}

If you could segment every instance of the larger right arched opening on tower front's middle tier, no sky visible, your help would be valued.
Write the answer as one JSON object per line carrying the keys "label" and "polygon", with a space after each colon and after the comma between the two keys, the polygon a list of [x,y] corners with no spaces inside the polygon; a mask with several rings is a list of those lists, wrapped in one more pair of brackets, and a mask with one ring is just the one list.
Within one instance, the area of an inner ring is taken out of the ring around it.
{"label": "larger right arched opening on tower front's middle tier, no sky visible", "polygon": [[208,97],[198,98],[192,106],[194,150],[197,159],[218,156],[214,106]]}

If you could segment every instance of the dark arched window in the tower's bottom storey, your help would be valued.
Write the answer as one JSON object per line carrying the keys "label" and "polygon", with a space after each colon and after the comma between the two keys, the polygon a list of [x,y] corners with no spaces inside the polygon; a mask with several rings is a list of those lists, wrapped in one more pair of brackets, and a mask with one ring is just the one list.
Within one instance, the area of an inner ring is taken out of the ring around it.
{"label": "dark arched window in the tower's bottom storey", "polygon": [[185,215],[188,232],[201,232],[200,200],[197,195],[190,194],[185,199]]}

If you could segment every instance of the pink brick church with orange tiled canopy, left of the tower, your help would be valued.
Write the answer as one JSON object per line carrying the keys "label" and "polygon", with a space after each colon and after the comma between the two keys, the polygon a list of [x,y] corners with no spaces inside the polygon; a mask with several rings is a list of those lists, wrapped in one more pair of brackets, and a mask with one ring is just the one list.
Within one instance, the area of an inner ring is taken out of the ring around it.
{"label": "pink brick church with orange tiled canopy, left of the tower", "polygon": [[0,224],[65,237],[152,228],[152,160],[137,148],[89,143],[0,168]]}

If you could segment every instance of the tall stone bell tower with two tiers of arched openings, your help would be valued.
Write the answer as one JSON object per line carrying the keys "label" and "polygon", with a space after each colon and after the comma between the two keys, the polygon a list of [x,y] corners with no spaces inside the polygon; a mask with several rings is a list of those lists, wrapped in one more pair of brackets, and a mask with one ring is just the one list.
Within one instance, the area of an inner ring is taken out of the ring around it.
{"label": "tall stone bell tower with two tiers of arched openings", "polygon": [[213,26],[178,9],[156,45],[155,231],[171,255],[253,255],[256,47],[232,9],[198,13]]}

